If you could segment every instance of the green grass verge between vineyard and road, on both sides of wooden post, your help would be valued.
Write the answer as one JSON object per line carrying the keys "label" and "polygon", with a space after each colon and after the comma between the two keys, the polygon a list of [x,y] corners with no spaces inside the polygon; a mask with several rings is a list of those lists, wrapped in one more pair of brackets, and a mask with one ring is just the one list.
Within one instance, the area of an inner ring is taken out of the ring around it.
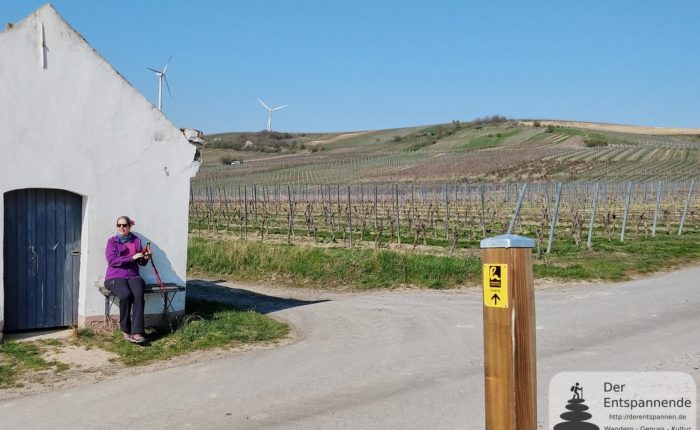
{"label": "green grass verge between vineyard and road, on both sides of wooden post", "polygon": [[[634,237],[624,243],[598,238],[591,250],[557,238],[551,254],[538,257],[533,251],[536,278],[563,280],[621,281],[699,261],[699,233]],[[474,257],[201,237],[190,240],[188,265],[191,275],[319,288],[450,288],[478,284],[481,273],[481,261]]]}

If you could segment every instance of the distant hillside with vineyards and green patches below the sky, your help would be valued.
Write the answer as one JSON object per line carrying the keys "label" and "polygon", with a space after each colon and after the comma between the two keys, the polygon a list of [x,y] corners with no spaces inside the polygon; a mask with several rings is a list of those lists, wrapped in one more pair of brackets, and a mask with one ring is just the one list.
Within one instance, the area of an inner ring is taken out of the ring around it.
{"label": "distant hillside with vineyards and green patches below the sky", "polygon": [[[207,136],[195,184],[700,177],[700,130],[486,120],[345,134]],[[225,165],[223,161],[241,160]]]}

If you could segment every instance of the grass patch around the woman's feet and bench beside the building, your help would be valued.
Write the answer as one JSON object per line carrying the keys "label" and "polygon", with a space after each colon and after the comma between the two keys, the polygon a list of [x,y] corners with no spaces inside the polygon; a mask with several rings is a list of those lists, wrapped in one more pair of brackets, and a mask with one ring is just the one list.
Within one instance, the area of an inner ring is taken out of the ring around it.
{"label": "grass patch around the woman's feet and bench beside the building", "polygon": [[289,326],[284,323],[222,303],[188,297],[186,311],[187,317],[174,333],[147,331],[149,343],[146,346],[125,342],[119,330],[98,335],[81,329],[76,333],[76,342],[113,352],[121,363],[138,366],[193,351],[275,341],[289,333]]}

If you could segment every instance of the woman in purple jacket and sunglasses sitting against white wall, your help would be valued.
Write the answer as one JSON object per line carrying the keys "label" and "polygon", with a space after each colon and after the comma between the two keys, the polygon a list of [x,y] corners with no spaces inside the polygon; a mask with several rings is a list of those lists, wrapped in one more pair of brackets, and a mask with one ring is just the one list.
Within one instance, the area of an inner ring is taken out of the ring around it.
{"label": "woman in purple jacket and sunglasses sitting against white wall", "polygon": [[143,343],[146,284],[139,275],[139,265],[145,266],[150,255],[142,251],[141,239],[131,233],[132,225],[128,216],[120,216],[117,235],[107,241],[105,288],[119,298],[119,328],[124,340]]}

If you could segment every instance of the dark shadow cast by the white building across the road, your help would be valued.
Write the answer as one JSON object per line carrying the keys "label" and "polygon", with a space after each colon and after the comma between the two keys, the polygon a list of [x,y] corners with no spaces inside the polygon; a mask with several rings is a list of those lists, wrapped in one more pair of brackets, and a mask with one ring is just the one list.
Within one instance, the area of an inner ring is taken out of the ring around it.
{"label": "dark shadow cast by the white building across the road", "polygon": [[224,281],[204,281],[201,279],[189,280],[187,281],[187,297],[221,302],[235,306],[238,309],[252,309],[261,314],[329,301],[327,299],[310,301],[283,299],[242,288],[226,287],[221,285],[223,282]]}

